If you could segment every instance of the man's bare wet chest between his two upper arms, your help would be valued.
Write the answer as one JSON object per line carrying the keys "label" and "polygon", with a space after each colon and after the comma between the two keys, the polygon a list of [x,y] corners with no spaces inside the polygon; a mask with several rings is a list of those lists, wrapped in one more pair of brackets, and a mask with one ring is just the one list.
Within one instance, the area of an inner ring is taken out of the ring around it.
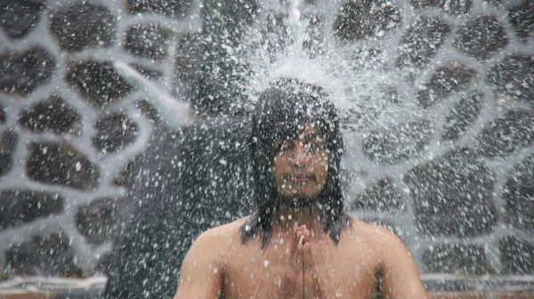
{"label": "man's bare wet chest between his two upper arms", "polygon": [[243,249],[226,265],[223,297],[369,298],[376,288],[376,258],[361,249],[315,244],[312,261],[289,246],[260,251]]}

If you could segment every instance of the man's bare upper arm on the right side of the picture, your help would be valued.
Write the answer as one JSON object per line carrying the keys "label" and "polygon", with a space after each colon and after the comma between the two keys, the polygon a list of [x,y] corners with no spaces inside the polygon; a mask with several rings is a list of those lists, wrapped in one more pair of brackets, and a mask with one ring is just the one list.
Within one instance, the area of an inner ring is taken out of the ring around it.
{"label": "man's bare upper arm on the right side of the picture", "polygon": [[[384,229],[385,230],[385,229]],[[382,292],[390,299],[426,299],[417,266],[401,238],[384,232],[381,243]]]}

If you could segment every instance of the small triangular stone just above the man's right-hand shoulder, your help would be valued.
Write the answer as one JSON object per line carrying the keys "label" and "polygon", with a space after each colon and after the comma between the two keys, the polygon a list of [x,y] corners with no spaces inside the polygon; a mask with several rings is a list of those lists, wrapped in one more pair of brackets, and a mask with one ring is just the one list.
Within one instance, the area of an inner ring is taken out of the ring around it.
{"label": "small triangular stone just above the man's right-hand shoulder", "polygon": [[350,209],[373,211],[403,211],[405,200],[395,190],[395,183],[384,177],[361,192],[353,201]]}

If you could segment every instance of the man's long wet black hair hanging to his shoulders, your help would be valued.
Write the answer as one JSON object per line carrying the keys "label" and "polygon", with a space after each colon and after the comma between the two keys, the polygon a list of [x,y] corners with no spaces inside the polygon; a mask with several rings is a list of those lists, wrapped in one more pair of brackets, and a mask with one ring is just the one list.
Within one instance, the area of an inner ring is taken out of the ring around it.
{"label": "man's long wet black hair hanging to his shoulders", "polygon": [[261,233],[262,247],[269,244],[273,216],[280,207],[271,174],[272,162],[279,141],[295,139],[307,123],[315,125],[328,151],[328,179],[319,195],[324,229],[337,244],[341,230],[349,225],[339,182],[344,145],[336,108],[322,87],[282,78],[261,94],[252,117],[250,153],[257,210],[240,228],[243,243]]}

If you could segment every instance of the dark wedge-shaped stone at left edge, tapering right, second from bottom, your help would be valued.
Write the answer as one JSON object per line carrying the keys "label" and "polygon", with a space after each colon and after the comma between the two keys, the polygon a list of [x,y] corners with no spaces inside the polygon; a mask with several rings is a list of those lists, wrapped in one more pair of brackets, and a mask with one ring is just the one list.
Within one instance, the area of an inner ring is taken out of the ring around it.
{"label": "dark wedge-shaped stone at left edge, tapering right, second from bottom", "polygon": [[0,202],[0,230],[5,230],[37,218],[62,213],[65,199],[58,193],[3,190],[0,192]]}

